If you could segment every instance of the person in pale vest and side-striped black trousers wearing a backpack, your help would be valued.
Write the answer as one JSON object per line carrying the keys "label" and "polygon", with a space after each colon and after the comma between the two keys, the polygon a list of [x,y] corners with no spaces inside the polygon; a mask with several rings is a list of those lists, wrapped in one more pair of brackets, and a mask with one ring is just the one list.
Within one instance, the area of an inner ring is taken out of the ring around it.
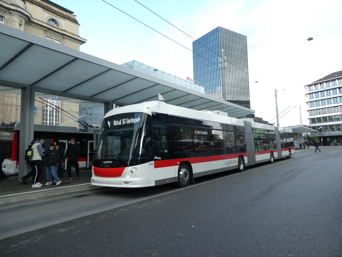
{"label": "person in pale vest and side-striped black trousers wearing a backpack", "polygon": [[[37,140],[34,142],[34,144],[32,145],[32,149],[33,149],[33,157],[31,159],[32,187],[42,186],[42,184],[39,182],[39,178],[40,178],[40,173],[42,170],[41,161],[42,161],[42,157],[44,156],[44,151],[45,151],[44,148],[42,147],[42,144],[44,142],[45,142],[45,138],[42,136],[39,136]],[[27,175],[30,175],[30,172]],[[24,184],[26,184],[26,180],[30,177],[30,176],[28,177],[26,176],[23,176],[21,178]]]}

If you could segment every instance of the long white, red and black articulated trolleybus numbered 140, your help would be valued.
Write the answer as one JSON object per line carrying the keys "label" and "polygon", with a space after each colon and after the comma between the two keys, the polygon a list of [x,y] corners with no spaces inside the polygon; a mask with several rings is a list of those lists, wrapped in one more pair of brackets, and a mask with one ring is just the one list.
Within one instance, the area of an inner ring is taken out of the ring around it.
{"label": "long white, red and black articulated trolleybus numbered 140", "polygon": [[[216,111],[216,113],[220,113]],[[227,115],[227,114],[226,114]],[[91,184],[187,186],[196,177],[294,153],[291,129],[151,101],[109,111],[102,121]]]}

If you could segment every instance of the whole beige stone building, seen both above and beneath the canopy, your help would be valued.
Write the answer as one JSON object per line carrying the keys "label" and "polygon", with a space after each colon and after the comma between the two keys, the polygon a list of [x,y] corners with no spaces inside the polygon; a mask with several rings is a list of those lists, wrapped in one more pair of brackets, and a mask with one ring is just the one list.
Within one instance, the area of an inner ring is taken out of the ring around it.
{"label": "whole beige stone building, seen both above and beneath the canopy", "polygon": [[[0,23],[23,30],[76,50],[86,42],[79,36],[80,24],[74,12],[49,0],[0,0]],[[14,122],[20,119],[20,90],[0,91],[0,121]],[[35,123],[61,125],[70,120],[61,115],[54,104],[78,117],[79,105],[72,102],[38,99],[35,103]],[[57,109],[57,110],[55,110]],[[67,126],[79,126],[75,121]]]}

